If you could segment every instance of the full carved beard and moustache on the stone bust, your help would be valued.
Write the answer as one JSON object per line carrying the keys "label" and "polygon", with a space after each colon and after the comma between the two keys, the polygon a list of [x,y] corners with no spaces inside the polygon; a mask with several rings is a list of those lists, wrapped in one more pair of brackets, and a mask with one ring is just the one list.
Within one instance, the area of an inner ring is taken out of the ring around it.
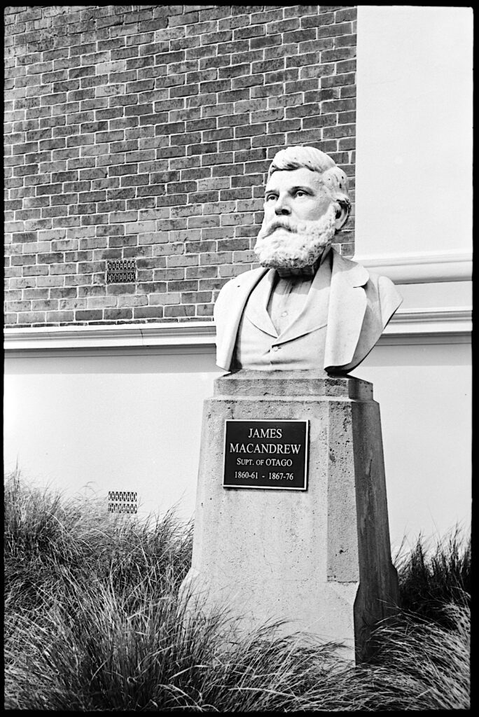
{"label": "full carved beard and moustache on the stone bust", "polygon": [[331,245],[336,234],[336,210],[329,206],[315,222],[292,222],[288,217],[263,222],[255,254],[264,267],[302,269],[314,264]]}

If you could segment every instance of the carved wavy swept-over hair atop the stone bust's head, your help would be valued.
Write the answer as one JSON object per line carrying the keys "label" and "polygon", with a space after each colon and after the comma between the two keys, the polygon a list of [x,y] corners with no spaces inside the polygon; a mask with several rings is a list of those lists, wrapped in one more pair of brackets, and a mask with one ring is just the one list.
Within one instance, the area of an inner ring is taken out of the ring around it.
{"label": "carved wavy swept-over hair atop the stone bust's head", "polygon": [[327,187],[334,201],[343,205],[348,214],[351,201],[348,194],[348,178],[330,156],[316,147],[287,147],[275,154],[267,173],[267,179],[273,172],[290,171],[306,167],[321,174],[324,186]]}

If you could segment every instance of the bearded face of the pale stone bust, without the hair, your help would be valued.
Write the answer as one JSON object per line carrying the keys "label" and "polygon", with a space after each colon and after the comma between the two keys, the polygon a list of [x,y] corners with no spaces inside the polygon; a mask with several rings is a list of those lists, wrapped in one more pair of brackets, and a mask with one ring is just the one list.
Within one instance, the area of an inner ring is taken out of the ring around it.
{"label": "bearded face of the pale stone bust, without the hair", "polygon": [[255,244],[262,266],[311,266],[336,234],[336,208],[321,176],[306,167],[275,171],[265,191],[265,217]]}

